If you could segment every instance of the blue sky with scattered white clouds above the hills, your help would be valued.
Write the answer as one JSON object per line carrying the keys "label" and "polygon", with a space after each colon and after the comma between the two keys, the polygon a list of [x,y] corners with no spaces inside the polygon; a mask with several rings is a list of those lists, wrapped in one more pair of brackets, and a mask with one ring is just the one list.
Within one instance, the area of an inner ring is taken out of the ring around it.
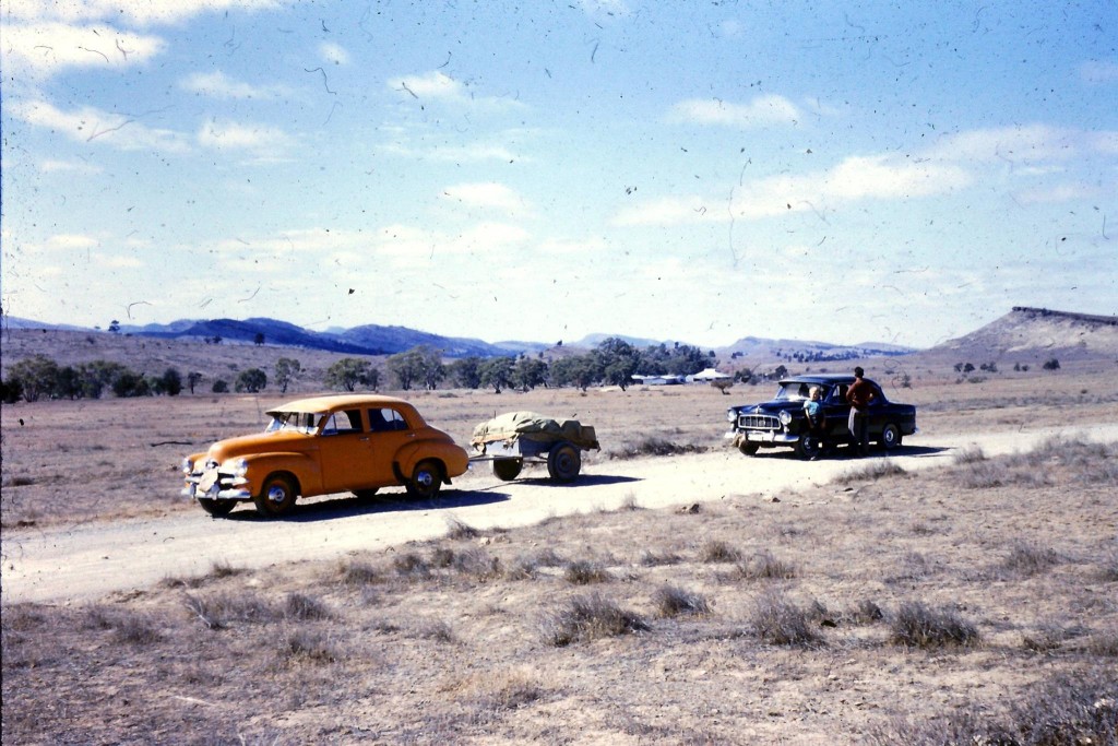
{"label": "blue sky with scattered white clouds above the hills", "polygon": [[1118,3],[6,0],[4,315],[926,348],[1118,314]]}

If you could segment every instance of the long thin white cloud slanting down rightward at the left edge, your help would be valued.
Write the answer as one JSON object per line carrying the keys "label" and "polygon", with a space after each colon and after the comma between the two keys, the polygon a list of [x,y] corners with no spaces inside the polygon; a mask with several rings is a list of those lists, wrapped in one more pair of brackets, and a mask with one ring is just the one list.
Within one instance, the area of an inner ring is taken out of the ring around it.
{"label": "long thin white cloud slanting down rightward at the left edge", "polygon": [[112,114],[92,106],[64,112],[42,101],[12,104],[11,113],[28,124],[53,129],[76,142],[95,142],[120,150],[186,152],[186,138],[172,130],[141,124],[126,114]]}

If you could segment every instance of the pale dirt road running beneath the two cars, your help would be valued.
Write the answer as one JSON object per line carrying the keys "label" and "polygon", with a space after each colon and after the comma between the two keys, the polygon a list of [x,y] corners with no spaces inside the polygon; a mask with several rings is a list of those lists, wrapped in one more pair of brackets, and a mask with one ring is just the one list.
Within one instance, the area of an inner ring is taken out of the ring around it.
{"label": "pale dirt road running beneath the two cars", "polygon": [[[1118,440],[1118,425],[967,435],[917,435],[890,457],[907,471],[949,464],[951,453],[977,445],[987,455],[1026,451],[1054,434]],[[514,482],[494,478],[487,464],[455,481],[438,500],[411,502],[402,490],[373,501],[339,497],[296,507],[287,520],[267,521],[250,506],[229,518],[197,512],[154,520],[87,523],[51,530],[9,530],[2,547],[3,603],[92,601],[143,588],[164,577],[208,573],[216,563],[263,568],[297,560],[330,559],[446,533],[448,520],[476,529],[512,528],[551,516],[610,510],[626,501],[663,508],[716,501],[728,495],[779,497],[825,484],[869,460],[816,462],[790,452],[746,457],[724,450],[691,456],[604,461],[567,487],[533,468]],[[171,488],[174,489],[174,488]]]}

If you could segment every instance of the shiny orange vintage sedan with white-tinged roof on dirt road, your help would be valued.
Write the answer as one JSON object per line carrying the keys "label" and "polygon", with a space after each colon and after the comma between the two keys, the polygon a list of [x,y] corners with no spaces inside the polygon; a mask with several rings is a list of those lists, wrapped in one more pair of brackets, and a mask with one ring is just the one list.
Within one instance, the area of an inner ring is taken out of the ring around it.
{"label": "shiny orange vintage sedan with white-tinged roof on dirt road", "polygon": [[282,516],[297,495],[371,495],[402,484],[432,498],[465,473],[468,456],[416,408],[390,396],[321,396],[268,412],[257,435],[218,441],[182,461],[183,495],[211,516],[252,500],[262,516]]}

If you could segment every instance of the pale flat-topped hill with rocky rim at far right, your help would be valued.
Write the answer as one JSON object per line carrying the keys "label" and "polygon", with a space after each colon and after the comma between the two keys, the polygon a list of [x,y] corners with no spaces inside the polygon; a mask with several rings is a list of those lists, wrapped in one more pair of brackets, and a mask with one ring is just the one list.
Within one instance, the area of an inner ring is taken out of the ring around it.
{"label": "pale flat-topped hill with rocky rim at far right", "polygon": [[1026,360],[1041,355],[1061,360],[1115,358],[1118,357],[1118,317],[1018,305],[1001,319],[937,344],[928,352],[950,353],[960,360]]}

